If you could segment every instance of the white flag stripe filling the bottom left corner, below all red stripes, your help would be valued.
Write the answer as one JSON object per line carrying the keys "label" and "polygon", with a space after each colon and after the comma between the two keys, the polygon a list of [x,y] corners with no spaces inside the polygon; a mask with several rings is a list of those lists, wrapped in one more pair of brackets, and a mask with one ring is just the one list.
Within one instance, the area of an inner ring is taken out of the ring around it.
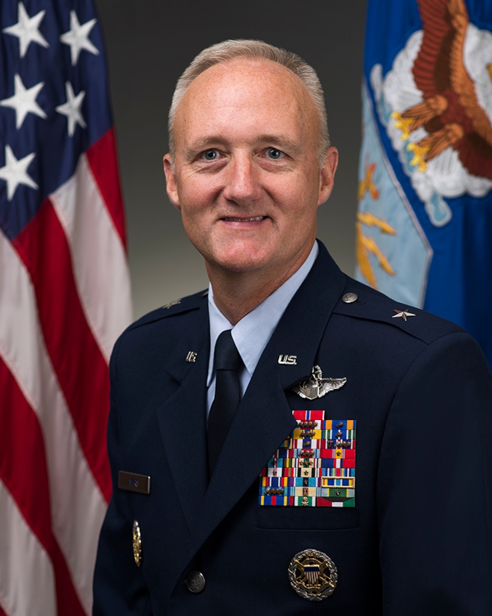
{"label": "white flag stripe filling the bottom left corner, below all red stripes", "polygon": [[0,481],[0,605],[13,616],[54,616],[52,562]]}

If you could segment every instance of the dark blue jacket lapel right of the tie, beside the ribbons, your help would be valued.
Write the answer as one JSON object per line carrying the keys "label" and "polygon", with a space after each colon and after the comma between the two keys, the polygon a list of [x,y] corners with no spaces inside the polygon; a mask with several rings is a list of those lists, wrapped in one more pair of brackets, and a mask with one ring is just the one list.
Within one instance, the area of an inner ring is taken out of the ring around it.
{"label": "dark blue jacket lapel right of the tie, beside the ribbons", "polygon": [[[320,245],[317,261],[261,355],[224,442],[192,533],[192,553],[258,482],[261,470],[295,428],[284,390],[311,375],[323,332],[344,286],[344,275]],[[279,355],[286,354],[296,355],[295,365],[278,363]],[[301,398],[299,402],[302,408]]]}

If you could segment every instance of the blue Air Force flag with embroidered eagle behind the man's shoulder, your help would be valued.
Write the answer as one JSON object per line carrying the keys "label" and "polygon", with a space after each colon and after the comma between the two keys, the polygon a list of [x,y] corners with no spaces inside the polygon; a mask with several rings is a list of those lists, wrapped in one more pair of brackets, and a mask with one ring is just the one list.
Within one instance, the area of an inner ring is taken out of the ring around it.
{"label": "blue Air Force flag with embroidered eagle behind the man's shoulder", "polygon": [[369,0],[357,277],[492,366],[492,0]]}

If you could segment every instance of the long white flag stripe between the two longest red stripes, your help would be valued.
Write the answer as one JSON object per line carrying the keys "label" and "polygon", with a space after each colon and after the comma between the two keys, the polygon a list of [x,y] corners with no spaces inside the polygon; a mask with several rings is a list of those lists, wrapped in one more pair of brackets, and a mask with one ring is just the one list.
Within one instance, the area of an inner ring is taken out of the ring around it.
{"label": "long white flag stripe between the two longest red stripes", "polygon": [[89,614],[98,533],[106,501],[85,460],[44,346],[29,274],[3,233],[0,233],[0,264],[0,357],[41,424],[49,474],[52,530],[82,606]]}

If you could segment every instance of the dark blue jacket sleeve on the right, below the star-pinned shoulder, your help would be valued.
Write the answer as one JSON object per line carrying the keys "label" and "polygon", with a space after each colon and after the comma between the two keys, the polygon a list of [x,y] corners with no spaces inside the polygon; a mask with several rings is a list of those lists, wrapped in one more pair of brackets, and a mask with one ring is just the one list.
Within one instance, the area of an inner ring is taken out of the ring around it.
{"label": "dark blue jacket sleeve on the right, below the star-pinned shoulder", "polygon": [[397,387],[377,485],[384,616],[492,614],[491,380],[455,333]]}

